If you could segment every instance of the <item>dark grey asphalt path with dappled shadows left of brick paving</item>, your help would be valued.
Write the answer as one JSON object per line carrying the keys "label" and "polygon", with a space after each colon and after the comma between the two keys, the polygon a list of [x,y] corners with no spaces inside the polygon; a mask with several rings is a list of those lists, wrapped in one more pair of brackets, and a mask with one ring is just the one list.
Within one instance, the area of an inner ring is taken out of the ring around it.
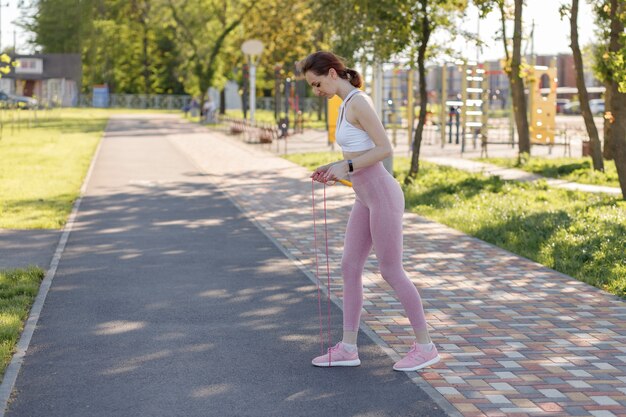
{"label": "dark grey asphalt path with dappled shadows left of brick paving", "polygon": [[5,415],[444,416],[365,334],[310,364],[315,285],[163,126],[110,122]]}

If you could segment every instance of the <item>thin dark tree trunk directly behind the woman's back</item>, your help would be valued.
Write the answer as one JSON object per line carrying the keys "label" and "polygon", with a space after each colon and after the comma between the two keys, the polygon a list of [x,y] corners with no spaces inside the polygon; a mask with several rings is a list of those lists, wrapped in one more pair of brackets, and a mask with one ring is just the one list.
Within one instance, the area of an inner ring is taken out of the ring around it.
{"label": "thin dark tree trunk directly behind the woman's back", "polygon": [[[432,28],[426,13],[427,0],[422,0],[422,11],[424,17],[422,19],[422,42],[417,50],[417,72],[420,82],[420,114],[417,122],[417,129],[413,136],[413,145],[411,148],[411,168],[409,174],[404,179],[404,184],[409,185],[413,182],[419,172],[419,157],[420,148],[422,146],[422,134],[424,132],[424,124],[426,123],[426,107],[428,105],[428,94],[426,91],[426,67],[424,62],[426,60],[426,49],[428,48],[428,41],[430,39],[430,33]],[[412,92],[409,92],[412,94]]]}

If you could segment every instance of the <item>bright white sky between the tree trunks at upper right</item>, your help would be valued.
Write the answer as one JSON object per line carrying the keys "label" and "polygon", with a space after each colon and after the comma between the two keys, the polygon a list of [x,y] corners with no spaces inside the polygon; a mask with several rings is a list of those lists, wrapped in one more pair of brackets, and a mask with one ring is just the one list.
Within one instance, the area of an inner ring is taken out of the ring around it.
{"label": "bright white sky between the tree trunks at upper right", "polygon": [[[561,20],[559,7],[561,4],[571,4],[571,0],[526,0],[523,9],[524,32],[530,33],[531,23],[535,22],[535,54],[556,55],[558,53],[571,53],[569,47],[569,19]],[[490,13],[486,19],[477,25],[478,11],[470,6],[463,28],[476,33],[479,30],[481,39],[487,42],[479,56],[480,61],[497,60],[504,56],[504,47],[501,40],[494,40],[495,34],[501,27],[499,12]],[[586,0],[579,1],[578,31],[579,44],[582,46],[594,39],[594,20],[591,6]],[[507,35],[512,34],[513,22],[507,28]],[[526,45],[522,43],[522,52]],[[456,49],[467,51],[468,59],[476,60],[476,47],[463,41],[457,42]],[[527,46],[527,52],[531,52],[531,46]]]}

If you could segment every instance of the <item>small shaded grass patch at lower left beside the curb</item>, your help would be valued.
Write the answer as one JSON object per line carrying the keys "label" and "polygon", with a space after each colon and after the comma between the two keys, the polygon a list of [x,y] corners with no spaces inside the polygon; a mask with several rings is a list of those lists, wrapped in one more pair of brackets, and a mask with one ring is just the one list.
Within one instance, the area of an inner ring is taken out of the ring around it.
{"label": "small shaded grass patch at lower left beside the curb", "polygon": [[0,271],[0,356],[4,375],[37,296],[44,271],[31,267]]}

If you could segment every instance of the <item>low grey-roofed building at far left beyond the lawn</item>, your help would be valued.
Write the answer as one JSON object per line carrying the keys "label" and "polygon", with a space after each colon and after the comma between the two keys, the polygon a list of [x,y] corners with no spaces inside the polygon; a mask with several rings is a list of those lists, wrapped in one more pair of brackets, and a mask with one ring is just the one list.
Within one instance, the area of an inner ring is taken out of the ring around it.
{"label": "low grey-roofed building at far left beyond the lawn", "polygon": [[34,97],[44,105],[77,105],[82,78],[80,54],[15,55],[11,58],[18,65],[0,79],[2,91]]}

